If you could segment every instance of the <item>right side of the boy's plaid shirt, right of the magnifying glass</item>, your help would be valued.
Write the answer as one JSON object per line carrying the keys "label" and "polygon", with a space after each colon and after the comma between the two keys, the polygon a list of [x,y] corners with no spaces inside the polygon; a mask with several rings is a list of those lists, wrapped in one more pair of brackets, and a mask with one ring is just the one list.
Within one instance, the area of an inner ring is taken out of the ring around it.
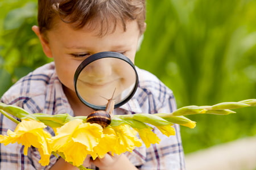
{"label": "right side of the boy's plaid shirt, right of the magnifying glass", "polygon": [[[146,70],[138,69],[139,86],[134,96],[140,113],[171,113],[176,110],[176,101],[173,92],[155,75]],[[137,109],[138,111],[138,109]],[[133,112],[138,113],[138,112]],[[126,156],[131,163],[140,170],[184,170],[184,152],[181,144],[180,127],[173,125],[175,135],[167,137],[160,130],[154,128],[154,133],[160,138],[159,144],[135,148]]]}

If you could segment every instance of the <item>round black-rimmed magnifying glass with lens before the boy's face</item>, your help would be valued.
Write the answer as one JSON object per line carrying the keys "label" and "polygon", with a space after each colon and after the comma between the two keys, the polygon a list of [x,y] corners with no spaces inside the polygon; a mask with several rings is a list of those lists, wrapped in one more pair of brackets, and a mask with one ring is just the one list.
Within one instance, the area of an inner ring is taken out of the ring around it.
{"label": "round black-rimmed magnifying glass with lens before the boy's face", "polygon": [[105,110],[109,99],[114,108],[133,97],[138,74],[133,62],[116,52],[101,52],[86,58],[77,67],[74,84],[79,99],[94,110]]}

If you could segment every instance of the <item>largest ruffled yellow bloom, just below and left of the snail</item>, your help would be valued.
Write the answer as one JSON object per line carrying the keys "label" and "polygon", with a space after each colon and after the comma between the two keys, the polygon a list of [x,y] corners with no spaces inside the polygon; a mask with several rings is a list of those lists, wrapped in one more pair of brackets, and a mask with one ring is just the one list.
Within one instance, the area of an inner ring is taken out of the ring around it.
{"label": "largest ruffled yellow bloom, just below and left of the snail", "polygon": [[67,162],[79,167],[86,155],[97,158],[94,147],[103,137],[102,127],[98,124],[83,123],[76,119],[67,122],[57,129],[55,137],[52,137],[52,150],[61,152]]}

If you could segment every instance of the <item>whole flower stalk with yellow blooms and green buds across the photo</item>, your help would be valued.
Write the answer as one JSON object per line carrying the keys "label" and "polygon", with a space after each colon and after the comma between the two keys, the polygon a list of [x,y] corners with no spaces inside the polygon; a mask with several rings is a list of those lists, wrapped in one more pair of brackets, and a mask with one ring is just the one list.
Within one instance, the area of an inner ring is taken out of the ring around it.
{"label": "whole flower stalk with yellow blooms and green buds across the photo", "polygon": [[[112,155],[131,152],[135,147],[142,146],[142,142],[146,147],[159,143],[160,139],[151,126],[155,126],[169,137],[175,135],[174,124],[195,128],[196,122],[184,117],[186,115],[225,115],[236,113],[230,109],[255,106],[256,99],[247,99],[213,106],[191,105],[172,113],[114,115],[111,124],[102,129],[98,124],[85,123],[86,116],[72,117],[67,113],[30,114],[22,108],[0,103],[0,113],[18,124],[14,131],[8,130],[7,135],[0,135],[0,143],[9,145],[18,142],[24,145],[25,155],[28,147],[38,148],[41,155],[39,163],[43,166],[49,164],[49,156],[53,152],[76,167],[86,169],[82,167],[82,163],[87,155],[91,155],[93,159],[103,158],[108,152]],[[18,122],[13,116],[20,118],[22,122]],[[46,125],[55,129],[55,137],[43,130]]]}

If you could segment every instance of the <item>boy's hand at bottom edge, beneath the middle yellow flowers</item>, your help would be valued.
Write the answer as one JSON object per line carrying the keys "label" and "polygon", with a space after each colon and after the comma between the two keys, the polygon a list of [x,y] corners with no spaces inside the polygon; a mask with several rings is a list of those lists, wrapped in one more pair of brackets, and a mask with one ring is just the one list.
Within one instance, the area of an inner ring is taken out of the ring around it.
{"label": "boy's hand at bottom edge, beneath the middle yellow flowers", "polygon": [[96,165],[96,167],[100,168],[101,170],[115,170],[115,169],[129,169],[135,170],[137,168],[134,167],[133,164],[127,159],[127,157],[123,154],[112,156],[112,154],[108,153],[104,156],[104,158],[97,158],[96,160],[90,160],[90,163]]}

